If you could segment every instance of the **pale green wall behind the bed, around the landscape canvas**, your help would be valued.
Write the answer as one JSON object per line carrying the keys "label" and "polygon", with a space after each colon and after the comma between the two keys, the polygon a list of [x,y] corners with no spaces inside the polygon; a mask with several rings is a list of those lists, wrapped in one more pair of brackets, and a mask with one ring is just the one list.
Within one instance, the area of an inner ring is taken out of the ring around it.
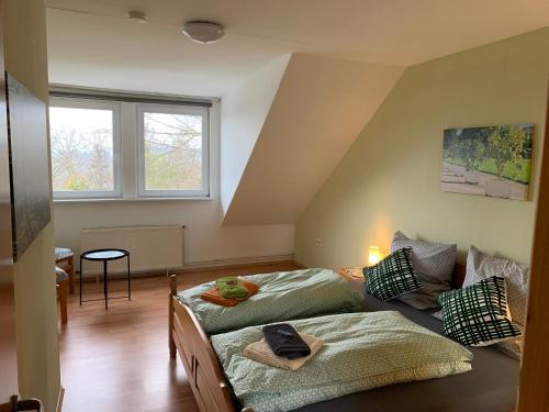
{"label": "pale green wall behind the bed, around the landscape canvas", "polygon": [[[457,243],[461,260],[474,244],[528,263],[548,78],[547,27],[407,68],[300,218],[296,260],[365,265],[401,230]],[[536,124],[528,201],[439,190],[445,129],[525,122]]]}

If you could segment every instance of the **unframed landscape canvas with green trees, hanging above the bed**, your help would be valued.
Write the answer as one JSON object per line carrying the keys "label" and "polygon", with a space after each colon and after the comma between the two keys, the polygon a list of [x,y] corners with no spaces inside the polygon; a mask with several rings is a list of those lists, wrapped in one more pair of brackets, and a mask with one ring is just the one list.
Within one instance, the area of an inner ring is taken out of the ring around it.
{"label": "unframed landscape canvas with green trees, hanging above the bed", "polygon": [[445,130],[440,189],[526,200],[533,141],[529,123]]}

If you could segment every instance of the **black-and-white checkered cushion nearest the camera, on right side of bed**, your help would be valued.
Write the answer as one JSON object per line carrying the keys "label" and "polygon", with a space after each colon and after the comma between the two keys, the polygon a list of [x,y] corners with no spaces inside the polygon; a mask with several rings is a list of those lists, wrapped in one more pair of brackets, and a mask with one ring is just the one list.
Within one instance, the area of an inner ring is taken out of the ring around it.
{"label": "black-and-white checkered cushion nearest the camera, on right side of bed", "polygon": [[501,276],[441,293],[438,301],[445,334],[464,345],[486,346],[520,335],[511,320]]}

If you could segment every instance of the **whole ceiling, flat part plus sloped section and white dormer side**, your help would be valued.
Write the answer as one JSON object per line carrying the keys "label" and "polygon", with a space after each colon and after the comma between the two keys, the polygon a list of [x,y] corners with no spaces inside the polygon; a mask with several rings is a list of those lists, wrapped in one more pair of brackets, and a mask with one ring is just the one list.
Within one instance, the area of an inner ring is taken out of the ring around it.
{"label": "whole ceiling, flat part plus sloped section and white dormer side", "polygon": [[[294,223],[403,67],[549,24],[547,0],[46,4],[52,82],[222,98],[226,225]],[[223,23],[226,36],[193,43],[180,27],[194,19]]]}

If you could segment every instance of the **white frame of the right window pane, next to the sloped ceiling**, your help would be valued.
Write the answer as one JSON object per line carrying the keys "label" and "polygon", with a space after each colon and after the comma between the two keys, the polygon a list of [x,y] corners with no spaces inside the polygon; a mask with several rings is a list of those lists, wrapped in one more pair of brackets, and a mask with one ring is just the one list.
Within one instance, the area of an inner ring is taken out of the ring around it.
{"label": "white frame of the right window pane, next to the sloped ceiling", "polygon": [[[210,197],[210,109],[193,105],[159,103],[137,104],[137,190],[139,199],[209,198]],[[202,118],[202,188],[200,190],[150,190],[145,189],[145,112],[189,114]]]}

